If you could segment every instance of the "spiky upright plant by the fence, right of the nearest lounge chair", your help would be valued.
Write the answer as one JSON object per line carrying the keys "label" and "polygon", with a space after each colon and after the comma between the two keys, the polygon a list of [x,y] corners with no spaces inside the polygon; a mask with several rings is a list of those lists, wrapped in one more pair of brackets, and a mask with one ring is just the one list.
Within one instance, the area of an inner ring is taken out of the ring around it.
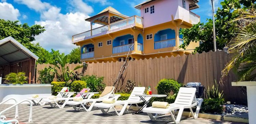
{"label": "spiky upright plant by the fence, right of the nearest lounge chair", "polygon": [[205,94],[207,95],[207,98],[219,98],[222,99],[223,98],[223,91],[219,91],[219,85],[217,84],[216,80],[215,80],[215,85],[212,86],[212,88],[210,89],[210,87],[208,86],[208,89],[205,91]]}

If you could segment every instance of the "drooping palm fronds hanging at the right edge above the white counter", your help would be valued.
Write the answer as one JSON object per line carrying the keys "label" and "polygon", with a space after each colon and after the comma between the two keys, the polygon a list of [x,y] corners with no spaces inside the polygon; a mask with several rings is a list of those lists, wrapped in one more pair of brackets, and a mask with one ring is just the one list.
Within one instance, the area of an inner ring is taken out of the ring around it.
{"label": "drooping palm fronds hanging at the right edge above the white counter", "polygon": [[222,71],[222,81],[230,70],[238,76],[238,81],[252,81],[256,78],[256,6],[248,10],[236,11],[240,16],[230,21],[237,27],[237,34],[227,44],[231,60]]}

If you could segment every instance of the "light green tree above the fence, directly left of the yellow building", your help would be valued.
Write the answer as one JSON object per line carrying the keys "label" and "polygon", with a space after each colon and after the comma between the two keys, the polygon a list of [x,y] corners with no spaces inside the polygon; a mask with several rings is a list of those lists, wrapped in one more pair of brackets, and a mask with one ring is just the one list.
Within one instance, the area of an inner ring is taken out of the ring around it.
{"label": "light green tree above the fence, directly left of the yellow building", "polygon": [[68,54],[68,63],[80,63],[80,47],[77,47],[73,49],[69,54]]}

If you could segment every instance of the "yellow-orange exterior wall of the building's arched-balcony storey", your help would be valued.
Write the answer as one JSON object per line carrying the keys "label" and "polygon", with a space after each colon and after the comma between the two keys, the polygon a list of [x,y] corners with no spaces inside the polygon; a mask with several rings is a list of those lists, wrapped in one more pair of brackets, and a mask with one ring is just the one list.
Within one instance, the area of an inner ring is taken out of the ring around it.
{"label": "yellow-orange exterior wall of the building's arched-balcony storey", "polygon": [[[101,61],[116,61],[118,60],[119,57],[126,57],[128,52],[125,53],[117,53],[117,54],[112,54],[113,50],[113,40],[116,37],[119,36],[124,36],[127,34],[133,35],[134,38],[134,51],[130,52],[130,56],[139,60],[144,59],[144,58],[155,58],[155,57],[165,57],[165,56],[176,56],[176,55],[183,55],[183,54],[188,54],[193,52],[195,47],[199,46],[199,42],[191,42],[190,45],[186,48],[186,50],[179,49],[179,30],[180,28],[189,28],[186,24],[182,24],[182,21],[170,21],[167,23],[155,25],[149,28],[144,29],[144,33],[142,30],[135,29],[135,28],[129,28],[129,29],[124,29],[120,30],[117,32],[113,32],[111,34],[105,34],[102,36],[98,36],[92,39],[87,39],[84,41],[80,41],[77,43],[79,46],[84,46],[87,44],[92,43],[94,45],[94,58],[88,58],[88,59],[83,59],[86,62],[101,62]],[[175,36],[176,36],[176,46],[175,47],[170,47],[170,48],[163,48],[163,49],[154,49],[154,35],[161,30],[165,29],[172,29],[175,31]],[[138,51],[137,50],[137,36],[139,34],[142,34],[143,36],[143,48],[144,51]],[[147,34],[153,34],[153,38],[146,40],[146,35]],[[107,40],[112,40],[111,45],[107,45]],[[98,47],[98,43],[102,42],[103,46]],[[82,60],[82,61],[83,61]]]}

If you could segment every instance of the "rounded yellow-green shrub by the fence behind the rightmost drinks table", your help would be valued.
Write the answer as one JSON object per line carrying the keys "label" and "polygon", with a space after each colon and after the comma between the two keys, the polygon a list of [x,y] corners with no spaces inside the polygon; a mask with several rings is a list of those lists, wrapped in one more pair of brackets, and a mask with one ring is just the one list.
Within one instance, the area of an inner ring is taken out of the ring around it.
{"label": "rounded yellow-green shrub by the fence behind the rightmost drinks table", "polygon": [[169,96],[171,91],[174,94],[178,93],[180,87],[182,87],[182,84],[174,79],[161,79],[156,89],[158,94],[166,94]]}

